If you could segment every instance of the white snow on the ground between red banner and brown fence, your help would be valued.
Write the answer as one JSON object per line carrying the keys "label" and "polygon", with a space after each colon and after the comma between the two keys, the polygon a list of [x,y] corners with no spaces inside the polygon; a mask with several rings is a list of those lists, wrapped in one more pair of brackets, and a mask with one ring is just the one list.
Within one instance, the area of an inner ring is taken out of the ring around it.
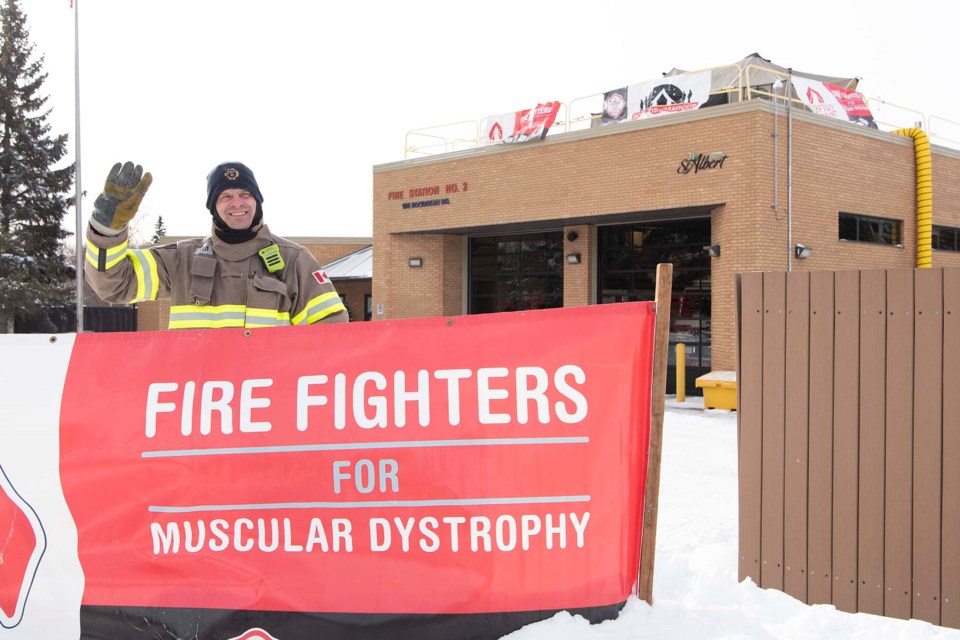
{"label": "white snow on the ground between red banner and brown fence", "polygon": [[960,630],[808,606],[737,582],[737,419],[703,399],[668,396],[663,434],[654,606],[631,598],[619,618],[590,625],[560,613],[509,640],[960,640]]}

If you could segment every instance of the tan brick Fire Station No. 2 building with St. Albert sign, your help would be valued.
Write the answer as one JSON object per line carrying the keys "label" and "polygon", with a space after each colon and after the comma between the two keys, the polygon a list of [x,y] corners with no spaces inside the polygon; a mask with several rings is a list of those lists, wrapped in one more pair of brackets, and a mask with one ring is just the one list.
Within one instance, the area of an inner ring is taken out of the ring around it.
{"label": "tan brick Fire Station No. 2 building with St. Albert sign", "polygon": [[[735,274],[915,266],[914,142],[768,94],[378,165],[373,318],[650,300],[672,262],[688,373],[734,369]],[[960,152],[931,161],[933,266],[958,266]]]}

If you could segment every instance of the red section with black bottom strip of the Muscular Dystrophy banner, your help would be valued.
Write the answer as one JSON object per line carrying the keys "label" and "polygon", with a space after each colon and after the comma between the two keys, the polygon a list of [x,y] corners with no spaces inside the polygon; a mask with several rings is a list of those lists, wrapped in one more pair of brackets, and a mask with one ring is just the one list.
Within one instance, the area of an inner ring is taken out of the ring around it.
{"label": "red section with black bottom strip of the Muscular Dystrophy banner", "polygon": [[82,637],[615,616],[637,589],[654,324],[628,303],[77,336],[60,473]]}

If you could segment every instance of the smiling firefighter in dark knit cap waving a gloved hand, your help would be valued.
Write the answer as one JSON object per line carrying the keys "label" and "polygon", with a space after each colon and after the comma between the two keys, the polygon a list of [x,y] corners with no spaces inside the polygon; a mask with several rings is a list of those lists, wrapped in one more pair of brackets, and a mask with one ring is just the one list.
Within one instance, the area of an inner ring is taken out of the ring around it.
{"label": "smiling firefighter in dark knit cap waving a gloved hand", "polygon": [[153,177],[117,163],[87,227],[87,282],[104,301],[170,299],[170,329],[275,327],[347,322],[330,278],[304,247],[270,233],[263,194],[243,163],[207,176],[213,234],[134,249],[127,223]]}

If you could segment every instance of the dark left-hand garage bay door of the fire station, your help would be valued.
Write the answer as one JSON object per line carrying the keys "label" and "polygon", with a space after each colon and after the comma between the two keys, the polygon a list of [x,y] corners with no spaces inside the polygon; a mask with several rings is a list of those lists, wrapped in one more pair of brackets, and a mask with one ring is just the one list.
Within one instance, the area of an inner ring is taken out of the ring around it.
{"label": "dark left-hand garage bay door of the fire station", "polygon": [[470,238],[469,313],[563,306],[563,232]]}

